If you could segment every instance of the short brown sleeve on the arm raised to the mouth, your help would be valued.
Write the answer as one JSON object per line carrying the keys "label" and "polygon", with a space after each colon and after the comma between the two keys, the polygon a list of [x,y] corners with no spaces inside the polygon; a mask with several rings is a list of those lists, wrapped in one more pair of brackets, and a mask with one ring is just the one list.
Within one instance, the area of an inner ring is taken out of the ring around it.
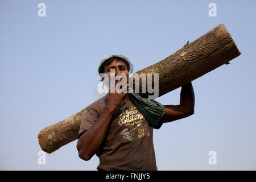
{"label": "short brown sleeve on the arm raised to the mouth", "polygon": [[96,123],[98,117],[100,117],[100,113],[98,113],[97,109],[93,108],[93,105],[89,105],[85,108],[84,113],[82,113],[78,138]]}

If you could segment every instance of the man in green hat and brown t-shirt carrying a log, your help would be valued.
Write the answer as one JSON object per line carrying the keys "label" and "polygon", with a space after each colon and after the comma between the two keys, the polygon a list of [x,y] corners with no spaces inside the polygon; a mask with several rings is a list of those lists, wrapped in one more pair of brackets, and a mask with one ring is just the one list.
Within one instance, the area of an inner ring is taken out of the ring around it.
{"label": "man in green hat and brown t-shirt carrying a log", "polygon": [[[106,73],[109,78],[113,77],[111,74],[115,77],[122,73],[129,78],[132,69],[125,56],[112,55],[102,60],[98,73]],[[163,106],[164,114],[157,126],[150,125],[131,102],[129,94],[109,92],[86,107],[82,114],[77,150],[84,160],[96,154],[100,158],[98,170],[157,170],[153,127],[159,129],[165,122],[188,117],[194,112],[191,82],[182,86],[179,105]]]}

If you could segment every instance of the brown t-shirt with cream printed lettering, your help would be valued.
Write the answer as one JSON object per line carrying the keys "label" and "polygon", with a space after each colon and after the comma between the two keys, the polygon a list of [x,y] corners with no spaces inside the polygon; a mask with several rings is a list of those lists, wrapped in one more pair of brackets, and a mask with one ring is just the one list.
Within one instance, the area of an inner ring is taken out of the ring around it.
{"label": "brown t-shirt with cream printed lettering", "polygon": [[[105,96],[86,107],[79,137],[96,123],[106,104]],[[102,147],[98,170],[157,170],[153,128],[129,100],[114,111]]]}

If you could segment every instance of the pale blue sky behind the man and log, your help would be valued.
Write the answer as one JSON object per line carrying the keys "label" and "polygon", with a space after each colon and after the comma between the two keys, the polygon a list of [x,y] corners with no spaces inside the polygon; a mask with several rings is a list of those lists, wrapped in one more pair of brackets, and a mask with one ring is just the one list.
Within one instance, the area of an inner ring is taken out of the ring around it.
{"label": "pale blue sky behind the man and log", "polygon": [[[38,4],[46,3],[46,17]],[[208,5],[217,5],[217,17]],[[0,1],[0,169],[96,170],[76,141],[38,164],[38,133],[99,97],[97,67],[134,72],[224,23],[242,55],[192,81],[195,114],[154,130],[159,170],[256,169],[256,1]],[[157,100],[179,104],[180,88]],[[209,165],[209,151],[217,164]]]}

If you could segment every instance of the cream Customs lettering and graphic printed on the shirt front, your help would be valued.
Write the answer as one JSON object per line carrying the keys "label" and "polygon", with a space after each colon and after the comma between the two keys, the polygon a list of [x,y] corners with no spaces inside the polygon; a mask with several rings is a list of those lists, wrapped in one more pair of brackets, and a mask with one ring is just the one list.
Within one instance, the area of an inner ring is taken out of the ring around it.
{"label": "cream Customs lettering and graphic printed on the shirt front", "polygon": [[125,125],[126,128],[122,130],[121,135],[126,141],[133,141],[150,136],[148,127],[144,122],[144,117],[136,107],[131,106],[129,109],[123,111],[119,115],[118,124]]}

